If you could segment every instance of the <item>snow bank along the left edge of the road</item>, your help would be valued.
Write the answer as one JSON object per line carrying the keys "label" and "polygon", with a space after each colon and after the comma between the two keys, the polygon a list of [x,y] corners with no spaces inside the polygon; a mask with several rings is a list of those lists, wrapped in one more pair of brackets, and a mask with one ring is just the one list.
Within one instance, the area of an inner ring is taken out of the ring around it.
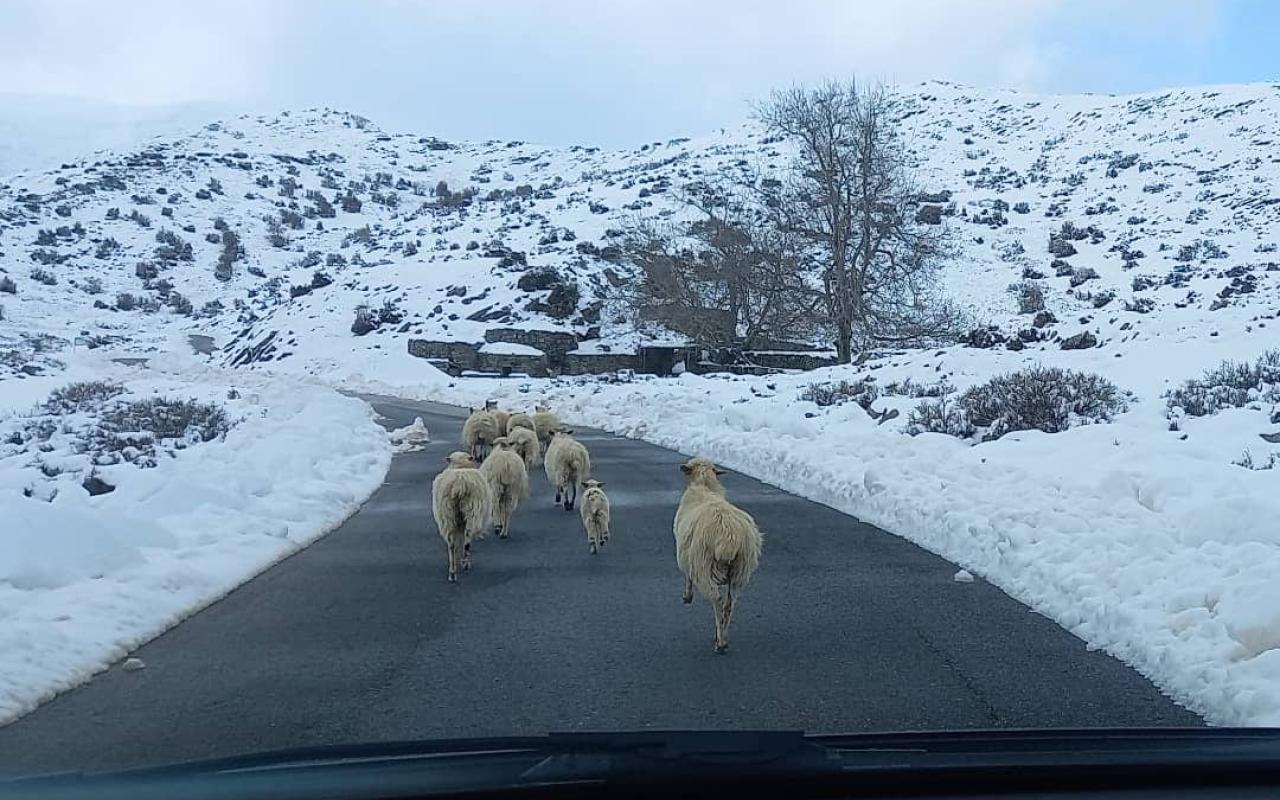
{"label": "snow bank along the left edge of the road", "polygon": [[367,404],[328,388],[182,356],[104,375],[134,394],[219,398],[238,422],[155,468],[101,471],[116,489],[97,497],[74,481],[51,503],[22,497],[32,471],[0,461],[0,722],[334,529],[390,463]]}

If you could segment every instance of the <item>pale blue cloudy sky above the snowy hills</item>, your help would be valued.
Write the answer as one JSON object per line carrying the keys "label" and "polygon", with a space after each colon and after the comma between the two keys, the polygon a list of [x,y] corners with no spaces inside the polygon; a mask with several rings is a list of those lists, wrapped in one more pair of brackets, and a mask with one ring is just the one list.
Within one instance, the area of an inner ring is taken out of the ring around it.
{"label": "pale blue cloudy sky above the snowy hills", "polygon": [[1276,41],[1271,0],[0,0],[0,95],[634,146],[827,77],[1042,93],[1280,79]]}

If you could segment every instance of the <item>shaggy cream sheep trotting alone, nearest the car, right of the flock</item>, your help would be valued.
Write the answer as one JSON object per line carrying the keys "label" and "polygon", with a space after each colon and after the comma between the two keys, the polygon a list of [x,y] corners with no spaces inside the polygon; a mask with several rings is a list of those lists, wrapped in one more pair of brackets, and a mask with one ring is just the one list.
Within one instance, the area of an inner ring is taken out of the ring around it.
{"label": "shaggy cream sheep trotting alone, nearest the car, right of the flock", "polygon": [[760,563],[763,536],[755,520],[724,499],[719,475],[707,458],[680,465],[687,486],[680,498],[672,530],[676,534],[676,563],[685,573],[685,604],[694,602],[694,588],[716,611],[716,652],[728,649],[728,626],[733,618],[733,595],[751,579]]}

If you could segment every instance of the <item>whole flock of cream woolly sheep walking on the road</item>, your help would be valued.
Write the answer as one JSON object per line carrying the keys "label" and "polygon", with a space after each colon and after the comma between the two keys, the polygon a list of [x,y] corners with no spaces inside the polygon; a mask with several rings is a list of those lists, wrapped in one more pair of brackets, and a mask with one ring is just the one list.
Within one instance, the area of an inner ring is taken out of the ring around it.
{"label": "whole flock of cream woolly sheep walking on the road", "polygon": [[[468,410],[462,447],[449,453],[431,484],[431,513],[448,552],[449,582],[471,571],[471,543],[488,531],[499,539],[512,534],[512,518],[529,499],[530,474],[543,465],[556,490],[556,504],[573,511],[586,535],[589,552],[609,541],[611,511],[604,481],[591,474],[591,457],[573,430],[539,404],[531,412],[506,411],[495,403]],[[707,458],[680,466],[685,492],[675,511],[676,564],[684,573],[681,599],[695,591],[716,617],[714,652],[728,649],[733,605],[760,563],[763,538],[755,520],[724,495],[724,470]],[[581,498],[579,488],[582,489]]]}

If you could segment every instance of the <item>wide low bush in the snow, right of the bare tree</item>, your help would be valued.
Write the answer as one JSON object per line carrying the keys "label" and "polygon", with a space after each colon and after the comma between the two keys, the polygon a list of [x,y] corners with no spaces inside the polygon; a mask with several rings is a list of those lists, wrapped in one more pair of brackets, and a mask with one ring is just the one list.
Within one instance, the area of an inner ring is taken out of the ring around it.
{"label": "wide low bush in the snow, right of the bare tree", "polygon": [[984,442],[1015,430],[1060,433],[1074,425],[1107,422],[1128,407],[1121,392],[1101,375],[1033,366],[997,375],[964,390],[955,402],[920,403],[908,433],[945,433]]}

